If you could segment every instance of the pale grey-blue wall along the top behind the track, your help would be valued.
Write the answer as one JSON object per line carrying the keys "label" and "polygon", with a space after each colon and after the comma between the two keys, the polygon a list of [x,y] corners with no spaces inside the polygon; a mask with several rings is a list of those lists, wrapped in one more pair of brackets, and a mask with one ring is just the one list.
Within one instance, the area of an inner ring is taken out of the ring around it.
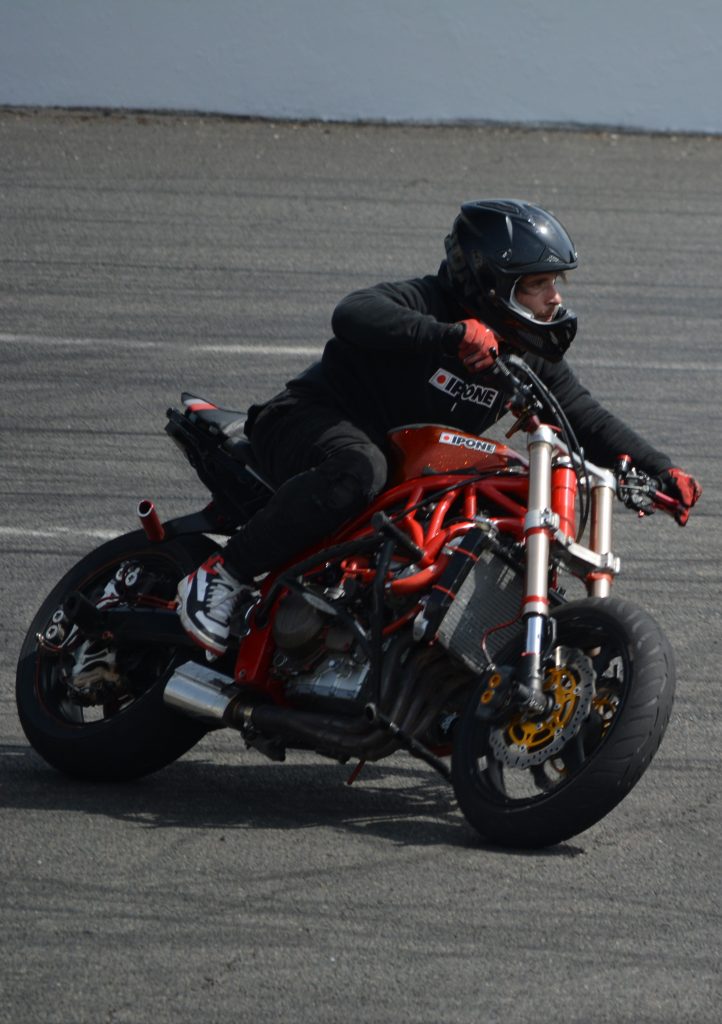
{"label": "pale grey-blue wall along the top behind the track", "polygon": [[722,132],[722,0],[0,0],[0,104]]}

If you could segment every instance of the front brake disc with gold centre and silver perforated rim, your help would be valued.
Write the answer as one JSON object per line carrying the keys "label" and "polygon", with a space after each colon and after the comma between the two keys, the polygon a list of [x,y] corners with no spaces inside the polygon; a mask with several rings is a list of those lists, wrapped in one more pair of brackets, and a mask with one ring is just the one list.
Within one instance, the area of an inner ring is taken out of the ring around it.
{"label": "front brake disc with gold centre and silver perforated rim", "polygon": [[557,648],[557,662],[544,680],[544,692],[554,700],[551,712],[541,719],[514,715],[490,734],[494,757],[509,768],[530,768],[553,758],[589,716],[595,680],[592,663],[569,647]]}

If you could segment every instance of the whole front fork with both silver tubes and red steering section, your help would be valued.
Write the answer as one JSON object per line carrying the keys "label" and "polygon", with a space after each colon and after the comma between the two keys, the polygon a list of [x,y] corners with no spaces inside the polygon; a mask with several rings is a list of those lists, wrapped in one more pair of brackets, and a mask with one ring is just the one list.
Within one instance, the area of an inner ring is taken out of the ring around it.
{"label": "whole front fork with both silver tubes and red steering section", "polygon": [[577,478],[569,460],[554,464],[558,441],[554,431],[540,426],[528,438],[529,487],[524,519],[525,574],[522,599],[524,649],[519,683],[528,710],[547,710],[544,693],[545,659],[554,642],[554,620],[549,617],[549,586],[552,545],[576,563],[585,564],[590,596],[608,597],[613,580],[611,514],[614,481],[604,471],[592,472],[590,547],[575,542]]}

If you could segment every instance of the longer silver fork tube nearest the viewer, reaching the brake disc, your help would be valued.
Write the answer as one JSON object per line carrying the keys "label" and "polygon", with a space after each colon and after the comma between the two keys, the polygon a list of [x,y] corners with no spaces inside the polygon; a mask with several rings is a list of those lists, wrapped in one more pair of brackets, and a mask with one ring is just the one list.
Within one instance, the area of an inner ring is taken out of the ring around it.
{"label": "longer silver fork tube nearest the viewer, reaching the brake disc", "polygon": [[549,617],[549,546],[551,540],[551,476],[554,433],[540,427],[529,435],[528,511],[524,520],[526,569],[524,574],[523,617],[525,647],[522,653],[523,682],[543,709],[544,651]]}

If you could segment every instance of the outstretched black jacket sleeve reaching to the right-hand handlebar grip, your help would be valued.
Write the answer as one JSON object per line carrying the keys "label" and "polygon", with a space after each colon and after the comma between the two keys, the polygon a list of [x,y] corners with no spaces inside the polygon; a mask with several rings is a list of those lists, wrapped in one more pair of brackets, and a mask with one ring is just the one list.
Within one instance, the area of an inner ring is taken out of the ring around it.
{"label": "outstretched black jacket sleeve reaching to the right-hand handlebar grip", "polygon": [[613,413],[604,409],[580,383],[565,359],[529,365],[552,390],[564,410],[577,438],[592,462],[611,469],[620,455],[629,455],[637,468],[654,476],[672,465],[664,452],[645,440]]}

